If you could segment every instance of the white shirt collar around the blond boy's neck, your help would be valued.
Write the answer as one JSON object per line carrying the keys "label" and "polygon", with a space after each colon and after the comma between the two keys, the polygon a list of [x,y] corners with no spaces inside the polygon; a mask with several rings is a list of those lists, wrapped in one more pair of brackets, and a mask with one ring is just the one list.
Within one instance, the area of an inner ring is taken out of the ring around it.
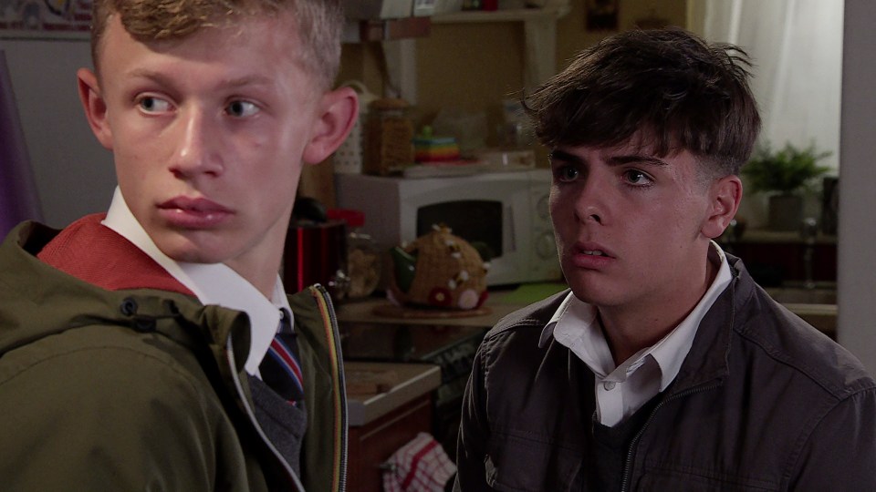
{"label": "white shirt collar around the blond boy's neck", "polygon": [[[158,249],[155,242],[143,230],[140,222],[125,203],[118,187],[112,196],[107,218],[102,223],[162,265],[164,270],[192,291],[203,304],[218,304],[249,315],[252,334],[245,369],[248,374],[259,375],[258,364],[261,364],[262,358],[265,357],[280,323],[280,308],[286,308],[290,314],[292,313],[279,274],[274,284],[274,292],[268,300],[262,292],[255,289],[253,284],[223,263],[187,263],[172,260]],[[294,325],[294,319],[292,321]]]}

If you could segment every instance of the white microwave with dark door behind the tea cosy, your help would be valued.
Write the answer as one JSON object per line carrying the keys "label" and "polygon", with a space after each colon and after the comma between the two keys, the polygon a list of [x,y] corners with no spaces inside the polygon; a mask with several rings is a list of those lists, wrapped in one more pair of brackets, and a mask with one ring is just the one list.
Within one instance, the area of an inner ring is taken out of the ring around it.
{"label": "white microwave with dark door behind the tea cosy", "polygon": [[339,208],[365,213],[362,228],[381,248],[413,241],[444,224],[490,252],[487,285],[559,281],[550,223],[549,169],[471,176],[335,177]]}

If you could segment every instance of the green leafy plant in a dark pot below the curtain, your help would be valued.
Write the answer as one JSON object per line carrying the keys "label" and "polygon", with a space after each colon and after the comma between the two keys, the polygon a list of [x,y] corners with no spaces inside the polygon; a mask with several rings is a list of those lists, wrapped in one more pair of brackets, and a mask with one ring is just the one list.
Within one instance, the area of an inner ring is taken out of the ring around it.
{"label": "green leafy plant in a dark pot below the curtain", "polygon": [[819,151],[815,144],[799,149],[790,143],[773,151],[769,144],[757,148],[742,168],[752,191],[769,195],[769,228],[774,231],[797,231],[803,220],[804,190],[830,168],[819,166],[829,151]]}

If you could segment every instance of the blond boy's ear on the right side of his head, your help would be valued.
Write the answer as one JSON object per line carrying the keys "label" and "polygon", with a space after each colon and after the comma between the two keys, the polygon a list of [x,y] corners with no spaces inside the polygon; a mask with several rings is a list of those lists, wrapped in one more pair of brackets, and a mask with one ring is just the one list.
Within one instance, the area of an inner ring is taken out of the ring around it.
{"label": "blond boy's ear on the right side of his head", "polygon": [[304,149],[303,158],[308,164],[328,159],[347,138],[359,115],[359,97],[350,87],[340,87],[326,93],[320,105],[317,127]]}

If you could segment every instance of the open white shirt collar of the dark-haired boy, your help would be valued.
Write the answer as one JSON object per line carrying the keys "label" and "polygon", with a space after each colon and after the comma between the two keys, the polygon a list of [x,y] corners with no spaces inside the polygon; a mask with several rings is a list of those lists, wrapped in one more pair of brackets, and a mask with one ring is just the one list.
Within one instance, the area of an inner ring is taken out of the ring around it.
{"label": "open white shirt collar of the dark-haired boy", "polygon": [[712,285],[704,293],[694,310],[667,333],[659,342],[633,354],[629,359],[615,367],[609,344],[602,334],[600,323],[596,319],[596,308],[586,302],[581,302],[574,293],[569,292],[566,299],[559,305],[541,333],[539,345],[544,345],[553,336],[558,343],[568,347],[600,379],[607,381],[624,381],[629,374],[645,363],[650,355],[659,365],[661,373],[660,391],[673,382],[682,367],[684,358],[694,343],[696,330],[703,321],[705,313],[714,304],[718,296],[725,291],[733,280],[730,265],[724,251],[712,241],[709,251],[710,261],[720,261],[718,273]]}

